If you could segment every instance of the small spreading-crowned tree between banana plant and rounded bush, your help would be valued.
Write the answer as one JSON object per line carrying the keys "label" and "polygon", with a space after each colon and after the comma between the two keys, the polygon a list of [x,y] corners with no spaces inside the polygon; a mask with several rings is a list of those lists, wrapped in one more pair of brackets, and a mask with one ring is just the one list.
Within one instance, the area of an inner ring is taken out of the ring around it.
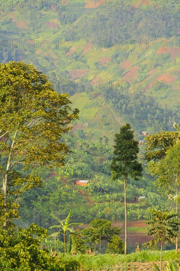
{"label": "small spreading-crowned tree between banana plant and rounded bush", "polygon": [[99,243],[99,252],[101,254],[102,241],[110,241],[114,235],[121,233],[118,227],[112,228],[111,222],[106,219],[94,219],[90,223],[90,228],[82,230],[90,242]]}

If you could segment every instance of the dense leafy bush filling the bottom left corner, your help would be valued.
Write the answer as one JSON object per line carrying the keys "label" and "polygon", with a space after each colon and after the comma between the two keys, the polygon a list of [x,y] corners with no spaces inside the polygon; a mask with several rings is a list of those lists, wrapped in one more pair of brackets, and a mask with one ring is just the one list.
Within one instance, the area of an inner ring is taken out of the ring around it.
{"label": "dense leafy bush filling the bottom left corner", "polygon": [[0,270],[2,271],[75,271],[79,264],[72,260],[63,262],[58,257],[51,257],[47,250],[39,249],[40,242],[47,235],[47,230],[32,224],[28,229],[18,228],[11,235],[0,231]]}

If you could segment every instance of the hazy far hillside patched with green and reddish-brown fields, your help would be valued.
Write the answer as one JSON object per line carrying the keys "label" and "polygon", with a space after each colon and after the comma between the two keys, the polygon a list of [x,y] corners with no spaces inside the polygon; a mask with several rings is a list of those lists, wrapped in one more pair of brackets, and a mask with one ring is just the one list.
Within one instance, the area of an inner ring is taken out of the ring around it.
{"label": "hazy far hillside patched with green and reddish-brown fields", "polygon": [[[171,129],[179,117],[178,1],[157,6],[147,1],[147,10],[130,2],[127,11],[120,3],[110,10],[109,2],[37,1],[35,9],[21,1],[19,10],[1,7],[1,62],[32,63],[49,75],[58,92],[69,91],[82,110],[77,128],[94,137],[113,136],[122,120],[140,124],[145,119],[144,125],[134,126],[139,132]],[[128,109],[132,101],[122,108],[123,99],[134,92],[153,97],[154,111],[141,97],[133,112]]]}

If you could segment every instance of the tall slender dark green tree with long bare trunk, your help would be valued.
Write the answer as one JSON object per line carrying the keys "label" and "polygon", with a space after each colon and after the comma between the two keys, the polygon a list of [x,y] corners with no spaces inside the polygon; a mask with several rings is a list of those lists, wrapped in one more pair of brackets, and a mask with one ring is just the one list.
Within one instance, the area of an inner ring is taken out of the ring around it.
{"label": "tall slender dark green tree with long bare trunk", "polygon": [[125,206],[125,246],[124,254],[127,254],[127,185],[128,176],[138,179],[142,176],[142,164],[138,162],[139,146],[134,139],[131,125],[126,123],[120,128],[119,134],[115,135],[115,145],[111,162],[112,179],[124,178],[124,206]]}

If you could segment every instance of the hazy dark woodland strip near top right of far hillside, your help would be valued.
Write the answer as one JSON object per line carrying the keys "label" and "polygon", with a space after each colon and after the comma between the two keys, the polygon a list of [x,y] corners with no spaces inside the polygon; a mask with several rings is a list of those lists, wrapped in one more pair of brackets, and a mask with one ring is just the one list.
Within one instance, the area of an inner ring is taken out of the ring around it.
{"label": "hazy dark woodland strip near top right of far hillside", "polygon": [[[161,37],[163,34],[165,38],[168,38],[172,36],[171,30],[178,31],[178,25],[174,23],[174,18],[178,19],[179,17],[178,8],[173,8],[172,2],[167,7],[166,12],[160,10],[154,12],[152,8],[151,6],[145,12],[136,8],[132,12],[132,3],[126,12],[121,8],[118,11],[116,8],[108,9],[106,7],[100,10],[98,8],[91,16],[85,16],[86,21],[82,18],[79,24],[73,24],[71,32],[66,30],[66,36],[71,37],[70,40],[86,38],[86,40],[92,40],[95,44],[98,44],[100,40],[105,40],[106,37],[106,40],[111,40],[114,44],[117,37],[119,42],[127,39],[143,40],[144,36],[150,40]],[[173,12],[171,12],[172,10]],[[146,16],[148,20],[146,20]],[[166,16],[169,18],[167,26],[160,26],[160,22],[167,20]],[[105,29],[104,25],[107,21],[108,28]],[[139,24],[140,21],[142,25]],[[74,35],[74,33],[76,34]],[[111,46],[107,43],[106,47]]]}

